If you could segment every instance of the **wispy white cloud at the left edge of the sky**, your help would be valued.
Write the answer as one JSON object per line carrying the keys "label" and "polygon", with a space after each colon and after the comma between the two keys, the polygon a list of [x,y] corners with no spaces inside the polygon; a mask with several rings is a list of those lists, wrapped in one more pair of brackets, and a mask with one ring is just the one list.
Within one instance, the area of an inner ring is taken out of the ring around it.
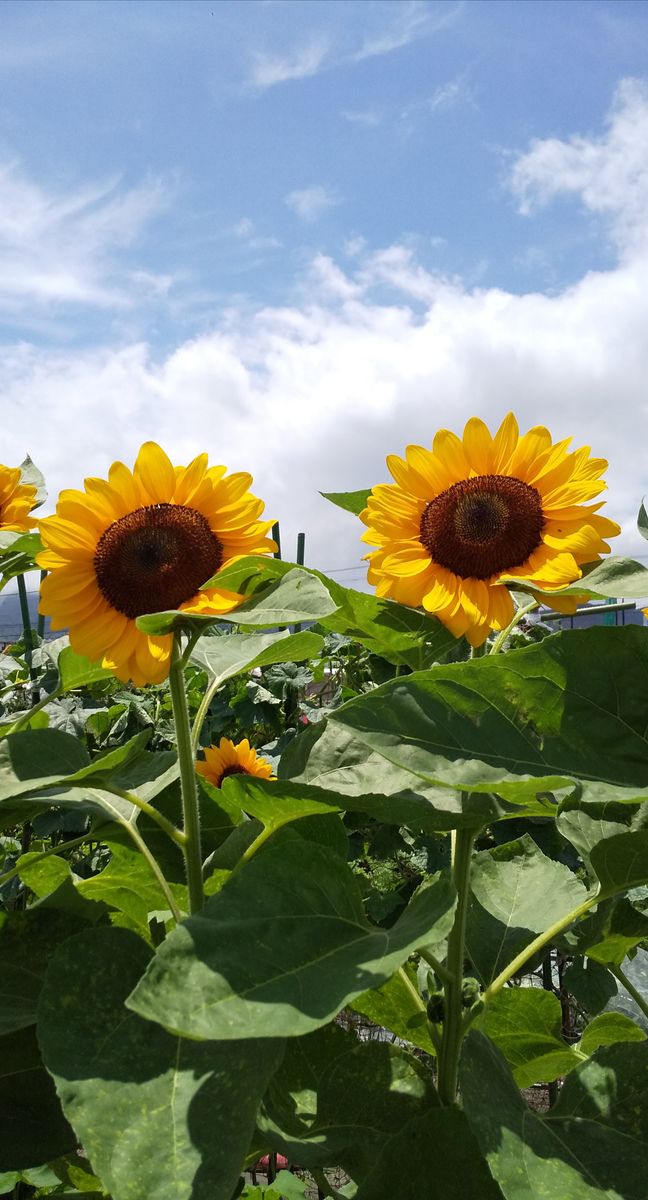
{"label": "wispy white cloud at the left edge of the sky", "polygon": [[0,312],[16,320],[53,305],[127,306],[130,280],[116,251],[167,202],[156,180],[126,191],[115,179],[47,191],[17,163],[0,163]]}

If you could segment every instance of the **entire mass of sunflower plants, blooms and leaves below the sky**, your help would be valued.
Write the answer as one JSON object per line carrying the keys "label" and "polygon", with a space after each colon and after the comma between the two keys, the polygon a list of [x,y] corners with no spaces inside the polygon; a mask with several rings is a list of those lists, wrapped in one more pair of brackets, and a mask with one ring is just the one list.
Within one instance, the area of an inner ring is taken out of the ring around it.
{"label": "entire mass of sunflower plants, blooms and leaves below the sky", "polygon": [[0,1195],[644,1200],[648,634],[534,607],[648,571],[546,430],[388,464],[376,595],[204,455],[0,468]]}

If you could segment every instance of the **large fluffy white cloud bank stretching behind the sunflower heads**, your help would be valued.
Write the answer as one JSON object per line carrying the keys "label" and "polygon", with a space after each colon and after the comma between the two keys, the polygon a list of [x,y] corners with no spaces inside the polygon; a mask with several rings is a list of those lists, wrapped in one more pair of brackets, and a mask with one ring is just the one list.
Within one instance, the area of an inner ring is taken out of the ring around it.
{"label": "large fluffy white cloud bank stretching behind the sunflower heads", "polygon": [[[299,302],[230,311],[227,325],[166,356],[145,343],[83,354],[8,346],[4,461],[29,450],[55,491],[104,474],[115,457],[132,460],[149,437],[176,462],[206,449],[215,462],[253,472],[269,515],[281,518],[284,552],[304,529],[307,560],[353,568],[342,576],[350,583],[361,577],[358,522],[318,490],[384,480],[385,454],[430,444],[438,427],[461,430],[475,413],[494,425],[512,408],[521,425],[574,434],[610,460],[607,510],[625,524],[622,548],[643,553],[634,523],[648,490],[648,252],[637,198],[648,108],[641,89],[620,96],[604,139],[551,140],[553,161],[571,161],[577,145],[578,162],[589,163],[577,194],[590,205],[611,194],[611,161],[634,128],[635,169],[605,208],[619,245],[623,238],[613,269],[558,295],[515,295],[432,275],[403,246],[376,253],[359,245],[352,269],[318,256]],[[522,179],[538,190],[546,145],[535,143],[514,168],[518,194]],[[646,232],[646,210],[643,222]]]}

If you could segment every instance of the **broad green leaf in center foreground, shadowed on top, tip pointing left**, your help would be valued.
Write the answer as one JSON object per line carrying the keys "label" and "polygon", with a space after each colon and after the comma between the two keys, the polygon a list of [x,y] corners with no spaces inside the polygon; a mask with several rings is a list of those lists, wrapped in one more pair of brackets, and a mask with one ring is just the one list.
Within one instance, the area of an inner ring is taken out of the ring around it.
{"label": "broad green leaf in center foreground, shadowed on top, tip pointing left", "polygon": [[454,906],[436,876],[378,929],[346,863],[284,829],[173,930],[128,1006],[185,1037],[298,1037],[445,936]]}

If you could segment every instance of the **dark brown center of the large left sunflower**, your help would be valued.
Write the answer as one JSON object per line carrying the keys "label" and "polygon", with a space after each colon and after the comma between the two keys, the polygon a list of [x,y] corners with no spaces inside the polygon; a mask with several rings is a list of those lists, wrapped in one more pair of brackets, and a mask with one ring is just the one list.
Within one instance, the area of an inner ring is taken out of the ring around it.
{"label": "dark brown center of the large left sunflower", "polygon": [[95,575],[125,617],[179,608],[218,570],[223,547],[205,517],[182,504],[151,504],[109,526],[97,542]]}

